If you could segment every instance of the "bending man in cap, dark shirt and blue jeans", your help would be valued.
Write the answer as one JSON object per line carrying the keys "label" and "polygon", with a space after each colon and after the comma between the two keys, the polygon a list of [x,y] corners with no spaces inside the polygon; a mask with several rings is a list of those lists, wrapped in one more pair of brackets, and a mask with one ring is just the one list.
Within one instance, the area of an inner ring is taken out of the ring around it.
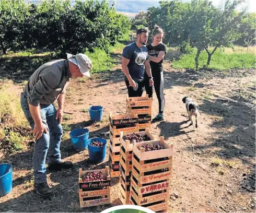
{"label": "bending man in cap, dark shirt and blue jeans", "polygon": [[[46,181],[45,159],[49,169],[72,168],[61,161],[62,115],[66,87],[71,78],[90,76],[91,60],[85,54],[68,54],[68,60],[55,60],[40,66],[29,78],[21,93],[20,103],[33,129],[36,144],[33,151],[34,191],[43,197],[52,195]],[[57,100],[58,109],[53,102]]]}

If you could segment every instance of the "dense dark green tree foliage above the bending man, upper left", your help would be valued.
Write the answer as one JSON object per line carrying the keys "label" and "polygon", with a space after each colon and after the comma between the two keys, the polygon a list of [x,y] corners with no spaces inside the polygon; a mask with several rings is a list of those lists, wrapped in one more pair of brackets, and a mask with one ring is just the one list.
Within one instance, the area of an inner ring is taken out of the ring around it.
{"label": "dense dark green tree foliage above the bending man, upper left", "polygon": [[0,42],[8,48],[47,49],[64,54],[109,50],[131,28],[131,21],[118,14],[107,1],[0,1]]}

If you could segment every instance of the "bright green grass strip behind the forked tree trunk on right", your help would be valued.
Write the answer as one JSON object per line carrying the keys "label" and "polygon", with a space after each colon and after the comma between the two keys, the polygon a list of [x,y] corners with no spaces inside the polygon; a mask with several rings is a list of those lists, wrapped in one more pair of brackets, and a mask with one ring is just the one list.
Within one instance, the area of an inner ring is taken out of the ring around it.
{"label": "bright green grass strip behind the forked tree trunk on right", "polygon": [[[195,55],[196,49],[193,49],[191,54],[183,55],[177,61],[174,60],[172,63],[173,68],[195,69]],[[206,51],[203,51],[199,57],[199,68],[203,68],[203,66],[206,65],[207,58],[208,55]],[[211,63],[208,68],[214,70],[255,68],[255,54],[225,53],[225,49],[219,49],[212,55]]]}

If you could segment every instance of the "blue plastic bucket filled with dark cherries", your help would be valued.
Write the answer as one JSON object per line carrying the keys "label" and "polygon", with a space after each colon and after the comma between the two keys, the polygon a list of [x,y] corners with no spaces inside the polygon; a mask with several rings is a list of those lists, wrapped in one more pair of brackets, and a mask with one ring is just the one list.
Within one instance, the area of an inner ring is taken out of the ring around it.
{"label": "blue plastic bucket filled with dark cherries", "polygon": [[[102,147],[91,146],[92,140],[98,140],[104,144]],[[106,158],[107,140],[104,138],[90,138],[88,140],[89,159],[92,162],[103,162]]]}

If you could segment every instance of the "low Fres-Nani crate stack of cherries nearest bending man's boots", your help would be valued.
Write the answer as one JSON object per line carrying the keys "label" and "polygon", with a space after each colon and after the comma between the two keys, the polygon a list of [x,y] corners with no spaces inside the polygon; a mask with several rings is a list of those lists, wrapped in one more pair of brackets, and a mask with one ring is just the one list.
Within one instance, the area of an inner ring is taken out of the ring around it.
{"label": "low Fres-Nani crate stack of cherries nearest bending man's boots", "polygon": [[[102,171],[102,174],[107,177],[105,181],[92,181],[83,182],[83,176],[87,172]],[[110,174],[109,167],[105,169],[83,171],[79,169],[78,173],[79,180],[79,202],[80,207],[98,206],[102,204],[110,204]]]}

